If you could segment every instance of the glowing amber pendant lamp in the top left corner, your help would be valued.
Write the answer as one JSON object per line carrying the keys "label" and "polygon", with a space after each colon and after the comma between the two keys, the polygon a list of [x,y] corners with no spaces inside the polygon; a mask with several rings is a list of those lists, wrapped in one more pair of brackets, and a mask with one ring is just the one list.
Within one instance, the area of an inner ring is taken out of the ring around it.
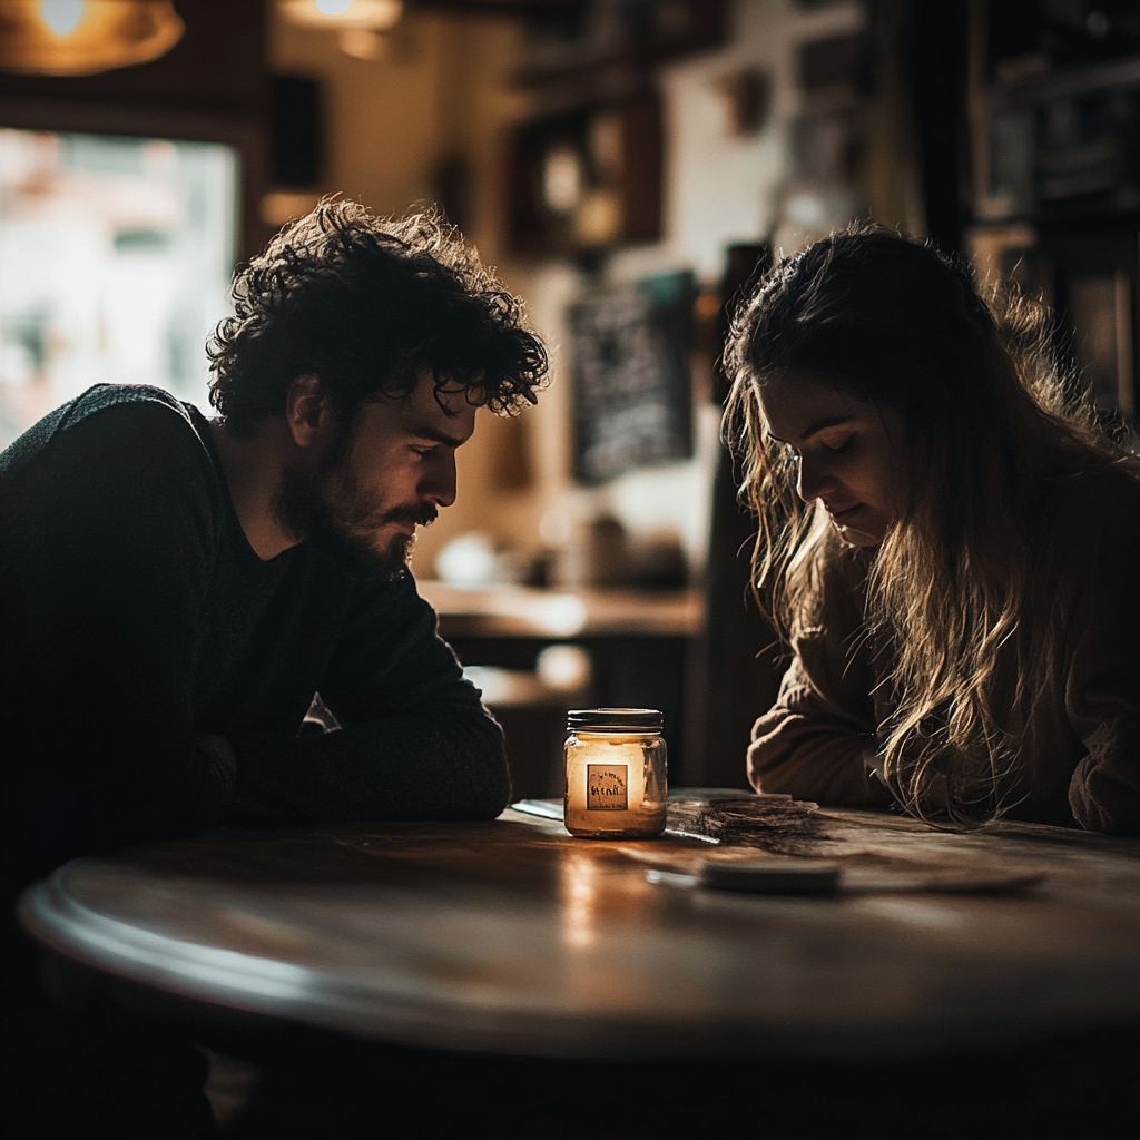
{"label": "glowing amber pendant lamp in the top left corner", "polygon": [[185,25],[171,0],[0,0],[0,71],[95,75],[164,56]]}

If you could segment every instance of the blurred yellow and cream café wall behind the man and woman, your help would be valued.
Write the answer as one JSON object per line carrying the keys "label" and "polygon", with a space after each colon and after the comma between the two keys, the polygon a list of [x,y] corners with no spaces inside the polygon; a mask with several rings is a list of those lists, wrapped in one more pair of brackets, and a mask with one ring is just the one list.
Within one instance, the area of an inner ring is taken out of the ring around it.
{"label": "blurred yellow and cream caf\u00e9 wall behind the man and woman", "polygon": [[[665,234],[654,245],[622,251],[606,268],[612,280],[691,268],[715,288],[732,242],[766,238],[777,220],[789,120],[799,109],[795,47],[806,39],[861,26],[862,6],[840,2],[801,9],[793,0],[735,0],[722,49],[660,68],[666,117]],[[440,547],[481,530],[504,546],[535,549],[568,522],[612,512],[634,537],[676,532],[690,563],[705,559],[708,498],[718,410],[708,401],[708,361],[695,377],[697,454],[685,463],[635,472],[601,489],[570,478],[564,312],[585,287],[569,262],[523,264],[504,252],[502,187],[510,125],[528,114],[512,89],[520,31],[505,21],[418,15],[406,21],[390,58],[345,56],[328,33],[304,33],[275,22],[274,70],[323,80],[329,123],[325,188],[398,212],[433,196],[439,162],[463,154],[472,169],[467,227],[486,261],[529,301],[531,319],[552,349],[552,385],[537,408],[516,421],[481,415],[459,455],[459,498],[420,540],[417,572]],[[754,135],[732,133],[724,80],[746,68],[772,78],[771,112]],[[505,478],[503,456],[518,469]],[[542,535],[547,537],[544,539]]]}

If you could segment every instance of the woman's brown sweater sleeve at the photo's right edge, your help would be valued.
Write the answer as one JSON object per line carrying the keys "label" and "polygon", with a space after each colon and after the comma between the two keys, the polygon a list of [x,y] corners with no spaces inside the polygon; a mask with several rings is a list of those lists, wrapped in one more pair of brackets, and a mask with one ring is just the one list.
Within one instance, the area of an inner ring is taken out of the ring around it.
{"label": "woman's brown sweater sleeve at the photo's right edge", "polygon": [[1088,752],[1068,798],[1083,828],[1140,834],[1140,484],[1100,490],[1078,524],[1086,542],[1074,547],[1082,572],[1068,604],[1066,706]]}

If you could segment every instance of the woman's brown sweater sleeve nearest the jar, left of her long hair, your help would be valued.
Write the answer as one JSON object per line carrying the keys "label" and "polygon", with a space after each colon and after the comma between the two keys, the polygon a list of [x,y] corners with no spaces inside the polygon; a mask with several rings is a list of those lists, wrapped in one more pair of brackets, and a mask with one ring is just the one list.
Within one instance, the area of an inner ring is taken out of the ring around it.
{"label": "woman's brown sweater sleeve nearest the jar, left of her long hair", "polygon": [[[823,572],[816,619],[793,640],[776,703],[752,728],[748,771],[760,792],[823,804],[886,805],[874,775],[874,679],[849,573]],[[849,568],[846,568],[849,570]]]}

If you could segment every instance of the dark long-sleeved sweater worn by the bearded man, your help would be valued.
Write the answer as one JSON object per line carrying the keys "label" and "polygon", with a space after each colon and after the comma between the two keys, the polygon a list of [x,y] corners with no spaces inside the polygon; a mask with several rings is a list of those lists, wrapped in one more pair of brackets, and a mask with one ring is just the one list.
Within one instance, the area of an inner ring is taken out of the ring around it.
{"label": "dark long-sleeved sweater worn by the bearded man", "polygon": [[[410,573],[308,543],[261,561],[206,421],[156,389],[93,388],[0,456],[0,683],[9,889],[227,820],[491,819],[508,796]],[[300,735],[318,691],[343,728]]]}

